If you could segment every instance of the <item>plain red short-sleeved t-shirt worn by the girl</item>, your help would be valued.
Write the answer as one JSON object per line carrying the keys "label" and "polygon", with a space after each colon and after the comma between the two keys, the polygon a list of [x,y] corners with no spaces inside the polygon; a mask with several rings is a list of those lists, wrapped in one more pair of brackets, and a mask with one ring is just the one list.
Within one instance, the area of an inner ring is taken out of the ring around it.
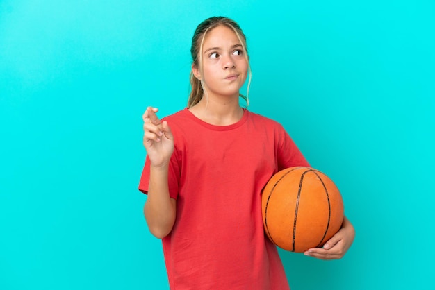
{"label": "plain red short-sleeved t-shirt worn by the girl", "polygon": [[[205,123],[187,108],[165,120],[177,199],[174,227],[162,239],[171,289],[288,289],[264,234],[261,190],[277,171],[309,166],[295,143],[279,123],[247,110],[230,126]],[[140,191],[148,184],[147,158]]]}

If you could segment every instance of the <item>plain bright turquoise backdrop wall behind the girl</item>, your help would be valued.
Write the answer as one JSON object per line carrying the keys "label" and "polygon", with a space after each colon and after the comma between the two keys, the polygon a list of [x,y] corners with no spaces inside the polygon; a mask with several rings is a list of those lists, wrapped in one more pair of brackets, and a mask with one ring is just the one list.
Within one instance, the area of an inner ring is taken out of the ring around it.
{"label": "plain bright turquoise backdrop wall behind the girl", "polygon": [[298,289],[434,289],[434,1],[0,1],[0,289],[167,289],[137,190],[142,112],[182,109],[190,40],[248,38],[249,110],[281,122],[356,228]]}

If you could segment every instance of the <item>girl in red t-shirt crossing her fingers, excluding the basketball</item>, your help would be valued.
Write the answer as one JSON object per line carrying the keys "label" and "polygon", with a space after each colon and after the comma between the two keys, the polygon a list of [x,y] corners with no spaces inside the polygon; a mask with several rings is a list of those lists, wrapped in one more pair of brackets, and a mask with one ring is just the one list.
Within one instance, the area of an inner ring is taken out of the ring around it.
{"label": "girl in red t-shirt crossing her fingers, excluding the basketball", "polygon": [[[191,54],[188,108],[162,121],[157,108],[143,114],[139,189],[148,194],[149,230],[163,241],[170,287],[288,289],[277,248],[264,235],[261,189],[277,171],[309,163],[279,123],[240,107],[250,69],[236,22],[206,19]],[[345,218],[324,248],[305,254],[339,259],[353,239]]]}

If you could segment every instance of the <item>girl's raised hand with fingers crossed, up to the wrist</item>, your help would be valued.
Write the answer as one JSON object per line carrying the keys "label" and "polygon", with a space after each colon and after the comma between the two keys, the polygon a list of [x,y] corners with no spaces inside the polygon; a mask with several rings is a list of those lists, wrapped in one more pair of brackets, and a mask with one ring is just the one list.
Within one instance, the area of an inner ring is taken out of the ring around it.
{"label": "girl's raised hand with fingers crossed, up to the wrist", "polygon": [[174,137],[166,121],[158,119],[157,108],[148,107],[142,116],[144,121],[143,144],[153,167],[164,167],[169,164],[174,152]]}

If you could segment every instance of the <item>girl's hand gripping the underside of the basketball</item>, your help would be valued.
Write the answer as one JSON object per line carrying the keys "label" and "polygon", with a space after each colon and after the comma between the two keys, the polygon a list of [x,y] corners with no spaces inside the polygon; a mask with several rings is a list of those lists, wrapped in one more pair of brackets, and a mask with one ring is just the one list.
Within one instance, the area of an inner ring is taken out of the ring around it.
{"label": "girl's hand gripping the underside of the basketball", "polygon": [[331,237],[323,248],[310,248],[304,254],[318,259],[341,259],[355,238],[355,229],[345,217],[341,229]]}

